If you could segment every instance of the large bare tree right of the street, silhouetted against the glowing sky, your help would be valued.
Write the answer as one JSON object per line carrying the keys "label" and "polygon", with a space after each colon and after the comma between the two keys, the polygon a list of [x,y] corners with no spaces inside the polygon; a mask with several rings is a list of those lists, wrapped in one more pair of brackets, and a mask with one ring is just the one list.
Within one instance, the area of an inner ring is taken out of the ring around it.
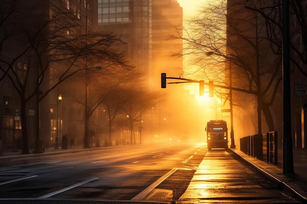
{"label": "large bare tree right of the street, silhouetted against the glowing sky", "polygon": [[[253,3],[253,7],[264,6],[260,1]],[[185,34],[171,38],[185,42],[183,53],[194,56],[194,63],[201,65],[207,80],[230,86],[231,71],[232,87],[256,96],[258,116],[261,111],[264,113],[272,131],[275,127],[270,106],[274,104],[281,84],[281,57],[272,51],[274,47],[268,40],[265,20],[245,6],[246,0],[209,2],[189,21],[190,26],[183,28]],[[258,125],[261,133],[261,118]]]}

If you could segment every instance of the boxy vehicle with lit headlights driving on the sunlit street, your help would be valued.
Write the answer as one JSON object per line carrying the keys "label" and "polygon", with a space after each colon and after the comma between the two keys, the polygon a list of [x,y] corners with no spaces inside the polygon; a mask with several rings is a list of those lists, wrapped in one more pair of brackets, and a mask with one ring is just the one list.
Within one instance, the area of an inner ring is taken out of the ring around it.
{"label": "boxy vehicle with lit headlights driving on the sunlit street", "polygon": [[228,128],[224,120],[210,120],[205,127],[207,132],[207,148],[228,149]]}

